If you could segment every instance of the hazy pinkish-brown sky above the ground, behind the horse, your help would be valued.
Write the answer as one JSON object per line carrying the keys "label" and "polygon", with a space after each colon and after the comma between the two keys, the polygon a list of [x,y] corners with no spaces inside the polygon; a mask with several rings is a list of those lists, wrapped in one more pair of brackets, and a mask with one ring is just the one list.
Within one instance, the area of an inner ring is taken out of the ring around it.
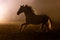
{"label": "hazy pinkish-brown sky above the ground, behind the horse", "polygon": [[0,23],[25,22],[25,15],[17,11],[21,5],[30,5],[36,15],[45,13],[55,22],[60,22],[60,0],[0,0]]}

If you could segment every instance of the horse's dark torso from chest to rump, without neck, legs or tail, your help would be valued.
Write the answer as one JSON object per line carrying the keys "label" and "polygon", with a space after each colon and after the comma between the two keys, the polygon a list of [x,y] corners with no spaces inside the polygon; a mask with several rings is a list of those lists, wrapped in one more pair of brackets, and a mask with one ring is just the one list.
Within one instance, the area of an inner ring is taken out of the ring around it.
{"label": "horse's dark torso from chest to rump, without neck, legs or tail", "polygon": [[40,24],[40,23],[46,23],[49,19],[49,17],[47,17],[46,15],[34,15],[34,16],[31,16],[31,17],[27,17],[26,18],[26,22],[27,23],[31,23],[31,24]]}

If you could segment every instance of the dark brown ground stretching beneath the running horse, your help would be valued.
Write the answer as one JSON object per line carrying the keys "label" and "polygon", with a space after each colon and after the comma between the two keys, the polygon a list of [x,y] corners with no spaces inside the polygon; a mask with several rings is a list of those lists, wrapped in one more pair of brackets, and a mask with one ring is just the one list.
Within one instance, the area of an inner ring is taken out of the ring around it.
{"label": "dark brown ground stretching beneath the running horse", "polygon": [[[0,40],[52,40],[60,39],[59,32],[40,32],[38,27],[28,26],[25,31],[20,32],[20,24],[1,24],[0,25]],[[37,30],[37,31],[36,31]]]}

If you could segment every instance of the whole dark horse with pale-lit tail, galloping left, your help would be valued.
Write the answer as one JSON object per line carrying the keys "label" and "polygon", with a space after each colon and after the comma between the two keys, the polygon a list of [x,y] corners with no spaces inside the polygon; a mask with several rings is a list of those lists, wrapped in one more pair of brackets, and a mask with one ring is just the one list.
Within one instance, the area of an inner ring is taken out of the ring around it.
{"label": "whole dark horse with pale-lit tail, galloping left", "polygon": [[51,30],[51,24],[52,21],[50,19],[49,16],[45,15],[45,14],[41,14],[41,15],[35,15],[33,9],[28,6],[28,5],[23,5],[20,7],[20,9],[17,12],[17,15],[19,15],[20,13],[24,12],[25,16],[26,16],[26,23],[21,25],[20,30],[22,29],[22,26],[25,25],[25,28],[27,27],[28,24],[41,24],[42,23],[42,28],[44,27],[44,25],[47,26],[48,30]]}

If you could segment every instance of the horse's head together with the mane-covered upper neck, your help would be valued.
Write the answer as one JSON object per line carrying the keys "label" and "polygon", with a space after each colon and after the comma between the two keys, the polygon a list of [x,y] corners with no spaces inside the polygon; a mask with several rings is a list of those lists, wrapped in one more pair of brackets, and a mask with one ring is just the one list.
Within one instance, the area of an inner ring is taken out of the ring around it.
{"label": "horse's head together with the mane-covered upper neck", "polygon": [[31,14],[33,13],[34,11],[32,10],[32,7],[31,6],[28,6],[28,5],[23,5],[19,8],[19,10],[17,11],[17,15],[19,15],[20,13],[22,12],[25,12],[26,14]]}

